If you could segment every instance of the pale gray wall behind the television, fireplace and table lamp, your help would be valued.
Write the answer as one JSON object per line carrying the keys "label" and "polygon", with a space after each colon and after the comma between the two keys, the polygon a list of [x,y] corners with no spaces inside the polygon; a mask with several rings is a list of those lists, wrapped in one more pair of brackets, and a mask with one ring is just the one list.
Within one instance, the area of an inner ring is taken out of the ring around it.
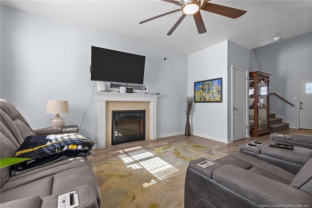
{"label": "pale gray wall behind the television, fireplace and table lamp", "polygon": [[[91,101],[91,45],[146,56],[144,82],[160,93],[157,136],[184,132],[187,56],[89,28],[1,6],[0,97],[12,102],[33,128],[49,126],[47,100],[68,100],[66,125],[80,126]],[[166,55],[167,60],[163,61]],[[95,87],[95,90],[97,87]],[[88,109],[80,133],[96,138],[96,104]],[[163,126],[163,124],[165,124]]]}

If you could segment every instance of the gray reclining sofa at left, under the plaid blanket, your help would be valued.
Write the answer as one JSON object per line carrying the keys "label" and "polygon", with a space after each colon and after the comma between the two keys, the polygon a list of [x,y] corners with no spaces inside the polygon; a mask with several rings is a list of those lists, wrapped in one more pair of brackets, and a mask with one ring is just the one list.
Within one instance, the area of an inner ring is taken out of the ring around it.
{"label": "gray reclining sofa at left, under the plaid blanket", "polygon": [[[15,157],[24,139],[34,130],[9,102],[0,100],[0,158]],[[58,129],[52,129],[58,131]],[[68,157],[11,175],[0,169],[1,208],[57,208],[60,194],[78,191],[79,208],[98,208],[100,192],[86,156]]]}

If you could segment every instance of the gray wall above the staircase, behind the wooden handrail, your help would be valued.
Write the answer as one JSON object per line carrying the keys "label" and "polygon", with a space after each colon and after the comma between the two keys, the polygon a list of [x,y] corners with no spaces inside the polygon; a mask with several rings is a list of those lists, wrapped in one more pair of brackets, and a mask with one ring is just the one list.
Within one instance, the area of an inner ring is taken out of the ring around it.
{"label": "gray wall above the staircase, behind the wooden handrail", "polygon": [[[295,106],[270,96],[270,111],[276,112],[290,127],[297,125],[297,82],[312,78],[312,32],[274,42],[255,49],[263,72],[271,74],[270,92]],[[253,50],[250,51],[250,71],[260,71]]]}

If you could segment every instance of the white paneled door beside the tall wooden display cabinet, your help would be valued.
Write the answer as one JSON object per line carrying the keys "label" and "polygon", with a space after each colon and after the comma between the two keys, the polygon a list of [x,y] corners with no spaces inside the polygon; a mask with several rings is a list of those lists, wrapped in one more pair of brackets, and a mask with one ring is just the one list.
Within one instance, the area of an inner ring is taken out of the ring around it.
{"label": "white paneled door beside the tall wooden display cabinet", "polygon": [[233,89],[232,89],[232,139],[233,141],[247,137],[247,70],[237,69],[232,66]]}

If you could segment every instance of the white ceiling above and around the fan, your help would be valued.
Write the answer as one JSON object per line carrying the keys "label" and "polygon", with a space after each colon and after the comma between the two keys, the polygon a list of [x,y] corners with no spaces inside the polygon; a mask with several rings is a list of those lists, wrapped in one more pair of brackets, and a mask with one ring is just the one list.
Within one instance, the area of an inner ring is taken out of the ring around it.
{"label": "white ceiling above and around the fan", "polygon": [[201,11],[207,32],[198,34],[193,17],[187,16],[171,36],[168,31],[181,16],[176,12],[153,21],[140,21],[179,6],[161,0],[1,0],[39,16],[114,33],[139,42],[192,54],[230,40],[247,49],[288,39],[312,31],[312,0],[212,0],[247,13],[230,19]]}

